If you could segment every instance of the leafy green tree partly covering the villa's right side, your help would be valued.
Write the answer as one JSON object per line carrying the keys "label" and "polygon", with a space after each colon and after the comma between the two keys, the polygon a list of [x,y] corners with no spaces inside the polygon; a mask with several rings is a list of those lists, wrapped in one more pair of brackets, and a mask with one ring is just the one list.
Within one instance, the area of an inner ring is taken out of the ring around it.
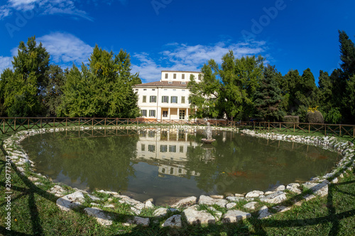
{"label": "leafy green tree partly covering the villa's right side", "polygon": [[235,58],[229,51],[222,65],[209,60],[201,69],[202,81],[190,79],[191,107],[197,107],[197,117],[224,117],[229,120],[251,113],[253,94],[263,71],[263,57]]}

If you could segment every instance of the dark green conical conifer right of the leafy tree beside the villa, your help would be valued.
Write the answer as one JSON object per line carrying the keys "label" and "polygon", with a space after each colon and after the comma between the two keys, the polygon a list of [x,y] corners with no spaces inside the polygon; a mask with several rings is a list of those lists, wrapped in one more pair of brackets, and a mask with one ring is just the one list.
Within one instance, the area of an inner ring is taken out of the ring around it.
{"label": "dark green conical conifer right of the leafy tree beside the villa", "polygon": [[263,79],[256,89],[254,106],[256,116],[266,120],[282,120],[285,112],[282,109],[283,96],[277,77],[282,77],[275,66],[268,65],[263,71]]}

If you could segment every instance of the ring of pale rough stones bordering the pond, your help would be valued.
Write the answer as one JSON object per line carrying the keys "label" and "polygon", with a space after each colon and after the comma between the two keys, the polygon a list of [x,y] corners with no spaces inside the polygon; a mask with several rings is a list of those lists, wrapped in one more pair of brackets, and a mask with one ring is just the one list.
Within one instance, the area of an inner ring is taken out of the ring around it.
{"label": "ring of pale rough stones bordering the pond", "polygon": [[[177,129],[205,129],[204,126],[196,127],[195,125],[169,125],[168,128]],[[102,130],[102,129],[146,129],[146,128],[165,128],[165,126],[149,125],[149,126],[113,126],[113,127],[67,127],[67,128],[42,128],[35,130],[23,130],[12,135],[8,139],[4,140],[4,150],[7,153],[6,159],[10,158],[11,163],[16,165],[16,169],[23,176],[27,176],[30,181],[33,181],[36,186],[43,185],[40,180],[46,179],[50,181],[53,186],[48,189],[48,193],[58,197],[57,205],[61,210],[72,210],[74,208],[86,205],[84,213],[92,215],[96,218],[97,222],[101,225],[112,225],[113,217],[103,209],[115,208],[114,203],[126,204],[131,209],[131,219],[124,223],[124,226],[129,225],[150,225],[149,218],[142,218],[138,215],[142,210],[155,208],[153,213],[156,219],[167,218],[162,227],[182,227],[182,215],[185,217],[188,224],[212,224],[217,222],[222,223],[236,223],[239,220],[250,218],[251,213],[246,213],[241,210],[237,210],[236,207],[258,210],[258,218],[268,218],[274,213],[290,210],[291,206],[282,206],[287,199],[287,193],[302,194],[302,201],[309,201],[315,196],[326,196],[328,194],[328,185],[337,183],[338,177],[342,178],[346,171],[351,171],[354,166],[354,144],[351,142],[339,142],[336,137],[314,137],[314,136],[301,136],[301,135],[280,135],[275,133],[258,133],[254,130],[241,130],[241,133],[251,135],[253,137],[262,137],[271,140],[283,140],[288,142],[301,142],[310,145],[317,145],[324,149],[333,150],[342,154],[343,158],[337,164],[337,167],[330,173],[324,174],[307,181],[302,184],[302,189],[307,190],[307,193],[302,193],[300,184],[291,183],[287,186],[276,186],[273,191],[251,191],[249,193],[239,194],[235,193],[230,196],[200,196],[198,199],[195,196],[189,198],[183,198],[180,201],[172,204],[168,208],[157,208],[153,205],[153,200],[148,199],[146,202],[141,203],[129,196],[124,196],[112,191],[96,191],[92,194],[80,189],[72,189],[70,187],[60,186],[61,184],[54,184],[50,179],[42,174],[36,174],[33,171],[35,163],[32,162],[26,152],[23,151],[20,143],[26,137],[31,135],[37,135],[41,133],[53,133],[61,132],[65,130]],[[226,130],[226,131],[239,131],[237,128],[214,128],[214,130]],[[107,196],[107,201],[102,202],[104,198],[100,198],[94,195],[104,194]],[[89,203],[85,203],[89,199]],[[302,201],[294,201],[294,205],[300,206]],[[98,203],[99,202],[99,203]],[[101,202],[101,203],[100,203]],[[267,206],[256,208],[256,206],[263,205],[265,203],[276,204],[271,208],[271,212]],[[89,206],[88,206],[89,204]],[[103,209],[102,209],[103,208]],[[216,208],[219,208],[217,210]],[[221,210],[222,209],[222,210]],[[224,213],[222,213],[222,211]]]}

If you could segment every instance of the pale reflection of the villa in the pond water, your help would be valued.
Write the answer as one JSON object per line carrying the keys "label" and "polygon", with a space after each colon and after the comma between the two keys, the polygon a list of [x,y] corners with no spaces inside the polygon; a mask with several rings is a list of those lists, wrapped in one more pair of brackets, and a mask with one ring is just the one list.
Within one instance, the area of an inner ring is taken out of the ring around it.
{"label": "pale reflection of the villa in the pond water", "polygon": [[[184,176],[187,174],[187,150],[194,149],[199,144],[189,138],[194,130],[178,129],[146,129],[139,131],[137,142],[137,158],[155,161],[158,164],[159,176],[164,174]],[[195,134],[196,135],[196,134]],[[192,171],[192,176],[200,173]]]}

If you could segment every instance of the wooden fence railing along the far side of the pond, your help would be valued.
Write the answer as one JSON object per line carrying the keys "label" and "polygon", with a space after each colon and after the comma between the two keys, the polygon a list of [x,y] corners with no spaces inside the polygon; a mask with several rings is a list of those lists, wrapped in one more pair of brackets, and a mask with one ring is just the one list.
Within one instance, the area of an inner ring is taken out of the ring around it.
{"label": "wooden fence railing along the far side of the pond", "polygon": [[355,138],[355,125],[333,125],[314,123],[255,122],[228,120],[154,120],[142,118],[50,118],[50,117],[4,117],[0,118],[1,133],[33,128],[55,128],[67,126],[97,125],[207,125],[214,127],[253,128],[290,133],[322,133],[324,135]]}

